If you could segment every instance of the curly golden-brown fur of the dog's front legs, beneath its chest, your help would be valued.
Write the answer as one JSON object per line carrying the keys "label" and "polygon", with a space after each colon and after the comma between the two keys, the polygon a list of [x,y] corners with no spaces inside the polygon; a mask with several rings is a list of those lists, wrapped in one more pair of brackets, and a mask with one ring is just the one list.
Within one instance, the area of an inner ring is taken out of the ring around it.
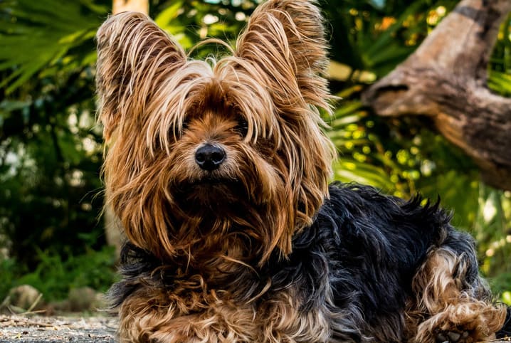
{"label": "curly golden-brown fur of the dog's front legs, beneath its chest", "polygon": [[[327,342],[326,316],[297,312],[293,295],[282,292],[264,306],[240,305],[214,291],[180,297],[134,294],[120,312],[122,342]],[[151,304],[151,306],[148,306]],[[170,320],[173,318],[172,320]]]}

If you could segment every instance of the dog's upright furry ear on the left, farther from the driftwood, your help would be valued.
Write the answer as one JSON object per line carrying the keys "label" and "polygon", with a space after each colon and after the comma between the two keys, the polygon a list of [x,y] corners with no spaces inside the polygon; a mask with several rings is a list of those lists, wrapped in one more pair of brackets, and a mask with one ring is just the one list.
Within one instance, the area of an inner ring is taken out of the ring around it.
{"label": "dog's upright furry ear on the left, farther from the driftwood", "polygon": [[186,55],[156,23],[137,12],[111,16],[96,38],[99,114],[108,140],[120,122],[142,114],[152,93],[186,62]]}

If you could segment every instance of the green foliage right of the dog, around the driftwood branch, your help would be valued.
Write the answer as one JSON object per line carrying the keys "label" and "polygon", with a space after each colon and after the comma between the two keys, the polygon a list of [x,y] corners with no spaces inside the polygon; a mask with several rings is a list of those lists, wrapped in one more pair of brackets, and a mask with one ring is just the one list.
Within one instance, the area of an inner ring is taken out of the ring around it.
{"label": "green foliage right of the dog, around the driftwood branch", "polygon": [[[407,9],[396,3],[385,1],[381,9],[373,10],[357,1],[349,9],[342,4],[326,9],[332,22],[337,23],[333,16],[339,16],[346,25],[340,31],[334,26],[335,41],[344,43],[334,43],[333,58],[352,70],[347,79],[332,82],[342,97],[335,117],[327,118],[330,137],[339,149],[335,177],[372,184],[405,198],[416,192],[431,199],[441,196],[441,204],[453,210],[453,223],[477,238],[483,273],[510,302],[510,192],[485,186],[470,159],[430,130],[433,125],[426,118],[386,120],[360,103],[360,93],[368,86],[367,77],[361,75],[379,78],[394,68],[406,57],[400,52],[407,48],[411,52],[457,1],[413,1]],[[511,95],[510,52],[508,19],[488,65],[489,87],[504,96]]]}

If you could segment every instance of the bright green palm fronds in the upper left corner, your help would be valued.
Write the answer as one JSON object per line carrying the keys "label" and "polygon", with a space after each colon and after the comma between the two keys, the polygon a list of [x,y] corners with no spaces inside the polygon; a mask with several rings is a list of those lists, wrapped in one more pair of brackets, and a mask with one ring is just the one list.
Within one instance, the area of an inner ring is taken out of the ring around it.
{"label": "bright green palm fronds in the upper left corner", "polygon": [[73,56],[71,50],[93,38],[98,14],[107,9],[86,0],[10,0],[0,11],[6,17],[0,21],[0,70],[10,71],[0,87],[9,94],[48,65],[90,63],[93,51]]}

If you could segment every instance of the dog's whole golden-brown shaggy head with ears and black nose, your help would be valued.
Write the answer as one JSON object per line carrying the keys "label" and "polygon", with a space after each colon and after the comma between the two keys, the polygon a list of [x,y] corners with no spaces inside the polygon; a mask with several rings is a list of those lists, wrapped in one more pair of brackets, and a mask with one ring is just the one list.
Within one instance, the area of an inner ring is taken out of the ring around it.
{"label": "dog's whole golden-brown shaggy head with ears and black nose", "polygon": [[289,253],[327,196],[326,64],[308,1],[259,6],[232,56],[209,63],[188,60],[142,14],[108,19],[98,31],[104,171],[127,238],[159,258]]}

